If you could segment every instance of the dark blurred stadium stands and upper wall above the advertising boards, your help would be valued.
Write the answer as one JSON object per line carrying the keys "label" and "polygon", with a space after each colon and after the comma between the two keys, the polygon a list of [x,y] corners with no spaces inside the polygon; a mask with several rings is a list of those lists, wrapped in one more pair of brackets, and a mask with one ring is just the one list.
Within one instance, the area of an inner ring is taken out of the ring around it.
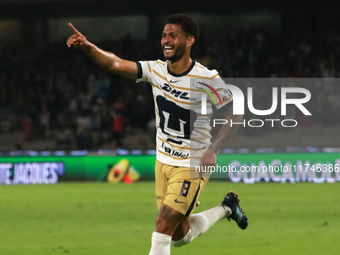
{"label": "dark blurred stadium stands and upper wall above the advertising boards", "polygon": [[[6,155],[114,148],[144,153],[155,148],[150,86],[108,74],[82,52],[67,48],[68,22],[120,57],[162,59],[165,18],[185,12],[202,29],[193,58],[223,77],[336,78],[336,7],[334,1],[290,0],[0,0],[0,150]],[[289,132],[241,127],[225,146],[236,151],[339,147],[339,90],[312,87],[308,107],[313,116]],[[258,95],[266,93],[271,91]],[[260,96],[257,101],[261,107]],[[298,111],[291,114],[299,118]]]}

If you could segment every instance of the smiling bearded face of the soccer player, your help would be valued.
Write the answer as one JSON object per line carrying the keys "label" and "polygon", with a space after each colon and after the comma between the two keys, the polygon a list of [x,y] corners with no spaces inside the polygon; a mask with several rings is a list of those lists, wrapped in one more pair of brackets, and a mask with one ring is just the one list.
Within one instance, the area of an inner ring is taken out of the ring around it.
{"label": "smiling bearded face of the soccer player", "polygon": [[164,58],[171,62],[180,60],[187,50],[188,37],[180,25],[166,24],[162,33]]}

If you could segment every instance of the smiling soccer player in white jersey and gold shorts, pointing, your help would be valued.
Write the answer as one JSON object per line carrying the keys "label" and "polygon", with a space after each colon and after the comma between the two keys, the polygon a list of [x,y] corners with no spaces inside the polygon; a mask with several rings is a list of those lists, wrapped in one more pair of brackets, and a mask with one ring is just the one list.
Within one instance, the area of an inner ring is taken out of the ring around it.
{"label": "smiling soccer player in white jersey and gold shorts, pointing", "polygon": [[[199,36],[197,24],[184,14],[168,17],[161,39],[165,62],[121,59],[98,48],[72,24],[68,25],[73,32],[67,40],[68,47],[83,50],[109,72],[152,85],[157,126],[158,214],[149,255],[168,255],[171,243],[175,247],[186,245],[223,218],[233,219],[241,229],[246,229],[248,218],[234,192],[229,192],[220,205],[192,214],[209,179],[202,175],[203,171],[192,171],[193,166],[202,169],[215,166],[217,151],[238,128],[222,125],[214,141],[210,141],[214,101],[220,100],[216,104],[218,111],[227,109],[226,119],[234,123],[243,119],[232,114],[232,106],[228,105],[232,95],[217,71],[208,70],[190,57],[191,47]],[[216,92],[206,102],[206,114],[200,107],[201,94],[205,93],[199,89],[202,86]]]}

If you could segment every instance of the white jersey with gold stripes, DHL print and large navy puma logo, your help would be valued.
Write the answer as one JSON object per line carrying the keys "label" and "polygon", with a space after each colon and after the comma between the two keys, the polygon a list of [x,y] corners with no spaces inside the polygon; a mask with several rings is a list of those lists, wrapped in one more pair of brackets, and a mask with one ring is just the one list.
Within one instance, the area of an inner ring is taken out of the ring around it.
{"label": "white jersey with gold stripes, DHL print and large navy puma logo", "polygon": [[137,82],[152,85],[157,160],[173,166],[197,166],[211,143],[212,105],[220,109],[231,102],[231,92],[216,70],[195,61],[182,74],[172,73],[167,62],[160,60],[140,61],[137,65]]}

